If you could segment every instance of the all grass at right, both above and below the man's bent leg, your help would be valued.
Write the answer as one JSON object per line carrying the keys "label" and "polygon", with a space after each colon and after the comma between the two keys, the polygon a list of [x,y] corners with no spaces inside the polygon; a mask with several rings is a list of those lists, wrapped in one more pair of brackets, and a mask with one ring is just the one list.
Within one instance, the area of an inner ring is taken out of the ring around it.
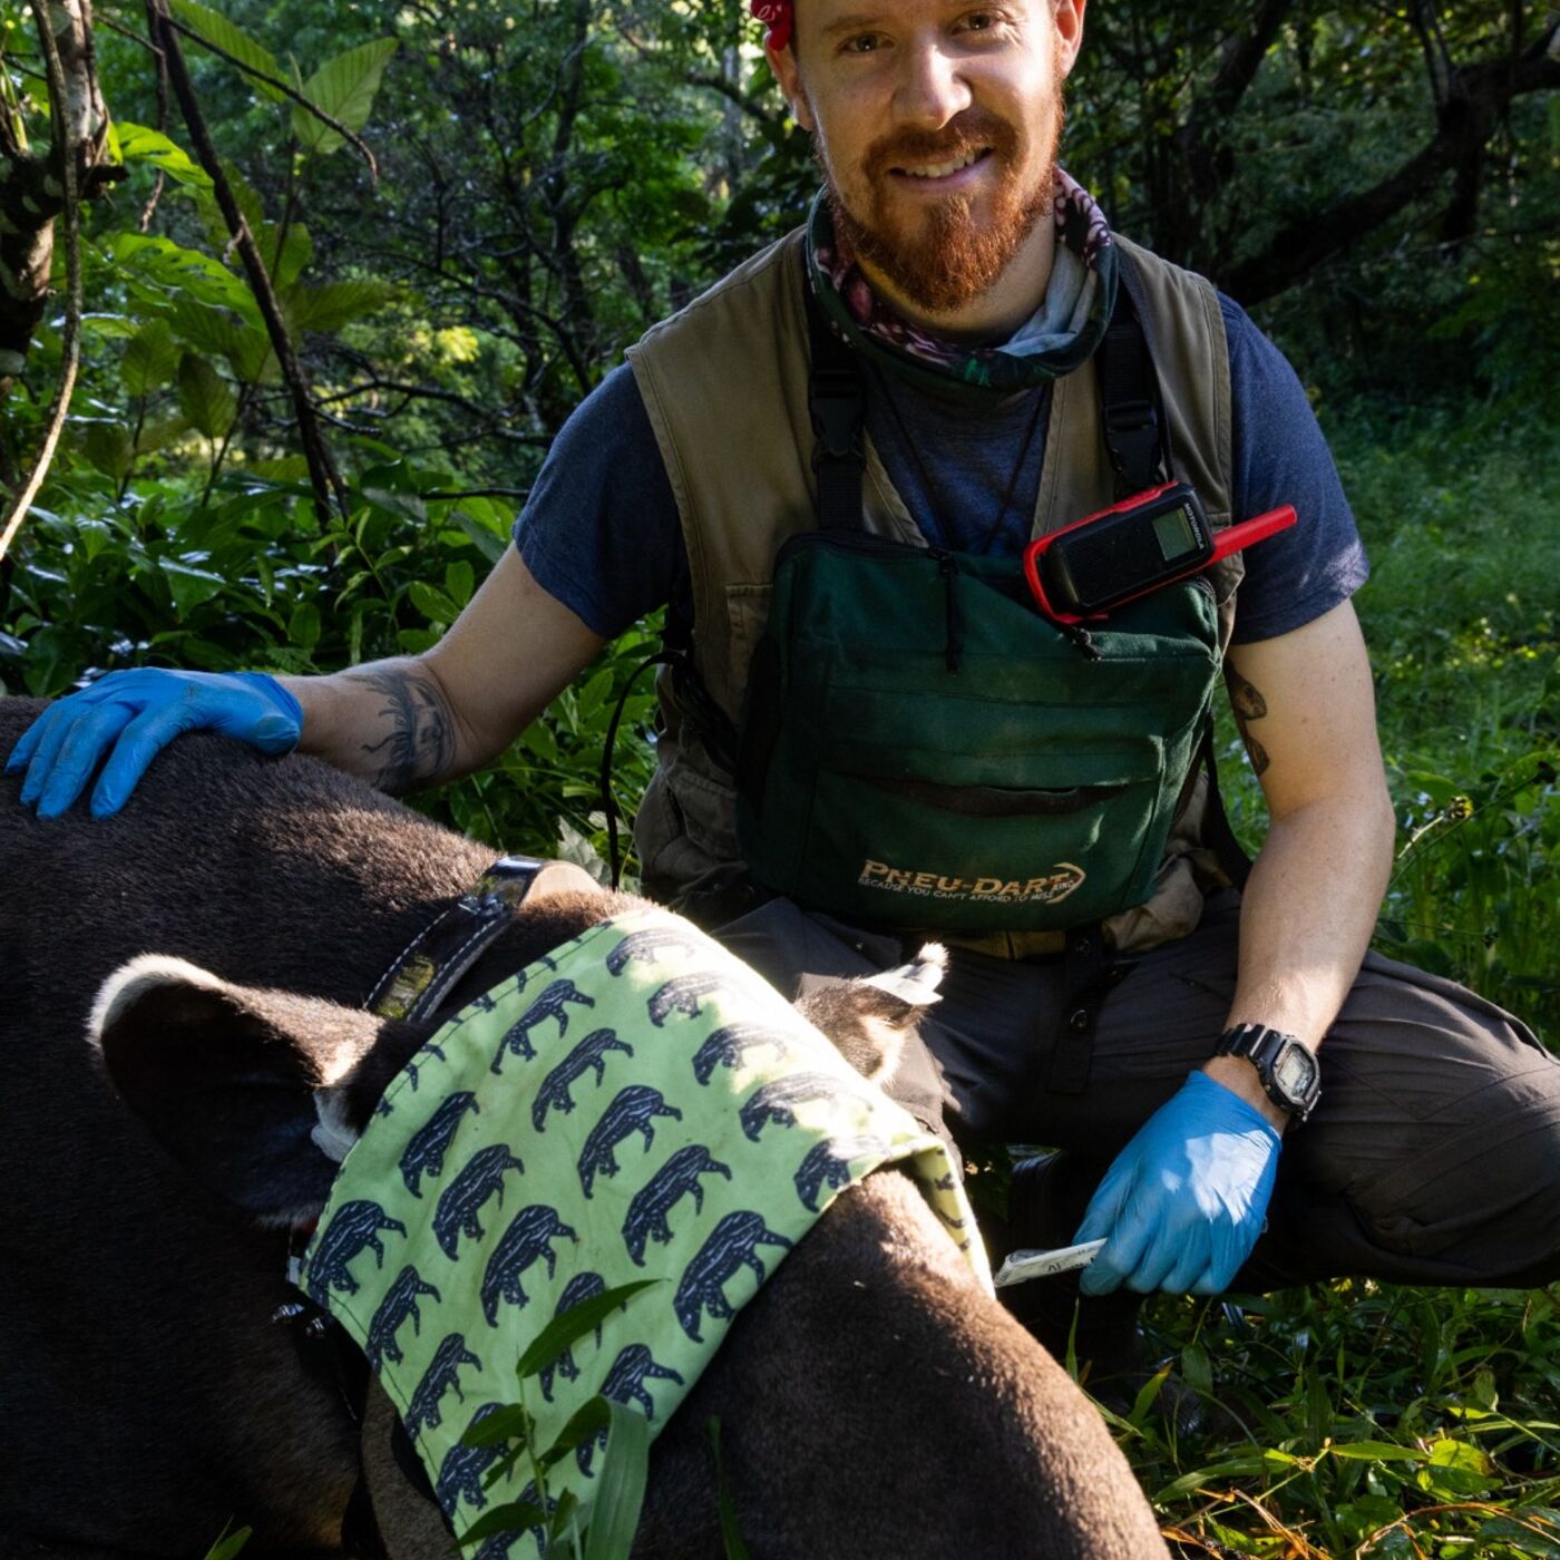
{"label": "all grass at right, both above and below the man's bent leg", "polygon": [[[1560,1041],[1560,485],[1533,413],[1334,438],[1373,560],[1371,647],[1398,869],[1376,945]],[[1248,842],[1260,799],[1221,733]],[[1560,1285],[1338,1281],[1153,1299],[1159,1357],[1209,1402],[1178,1437],[1156,1377],[1115,1429],[1181,1555],[1560,1560]]]}

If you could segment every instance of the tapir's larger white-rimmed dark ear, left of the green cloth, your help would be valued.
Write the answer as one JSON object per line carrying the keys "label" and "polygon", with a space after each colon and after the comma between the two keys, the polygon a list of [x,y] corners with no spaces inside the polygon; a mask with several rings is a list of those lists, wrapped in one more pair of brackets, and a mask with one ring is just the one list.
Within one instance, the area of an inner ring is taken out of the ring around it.
{"label": "tapir's larger white-rimmed dark ear, left of the green cloth", "polygon": [[109,1080],[158,1142],[267,1223],[324,1204],[356,1137],[348,1086],[381,1028],[373,1014],[158,955],[105,981],[90,1023]]}

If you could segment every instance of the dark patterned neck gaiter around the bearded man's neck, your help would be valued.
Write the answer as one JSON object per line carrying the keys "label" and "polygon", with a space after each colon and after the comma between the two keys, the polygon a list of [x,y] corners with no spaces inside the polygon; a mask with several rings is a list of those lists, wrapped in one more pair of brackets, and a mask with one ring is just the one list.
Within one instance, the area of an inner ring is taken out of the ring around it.
{"label": "dark patterned neck gaiter around the bearded man's neck", "polygon": [[1000,401],[1086,363],[1115,307],[1120,253],[1104,212],[1062,168],[1053,200],[1056,262],[1034,318],[995,346],[959,346],[897,314],[835,232],[828,195],[807,220],[808,271],[828,323],[856,351],[902,379],[970,401]]}

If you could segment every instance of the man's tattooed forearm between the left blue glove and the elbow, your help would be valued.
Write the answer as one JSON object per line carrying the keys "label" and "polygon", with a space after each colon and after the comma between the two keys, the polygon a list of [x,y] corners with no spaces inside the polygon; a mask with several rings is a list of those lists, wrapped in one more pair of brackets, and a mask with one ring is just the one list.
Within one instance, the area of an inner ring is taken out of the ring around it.
{"label": "man's tattooed forearm between the left blue glove and the elbow", "polygon": [[300,750],[392,796],[452,780],[487,757],[438,677],[415,657],[279,680],[303,707]]}

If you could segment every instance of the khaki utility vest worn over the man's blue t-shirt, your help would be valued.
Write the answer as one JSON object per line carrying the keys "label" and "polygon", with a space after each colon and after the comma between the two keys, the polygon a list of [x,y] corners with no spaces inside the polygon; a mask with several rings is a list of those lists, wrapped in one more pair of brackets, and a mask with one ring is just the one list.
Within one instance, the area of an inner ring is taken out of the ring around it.
{"label": "khaki utility vest worn over the man's blue t-shirt", "polygon": [[[1201,276],[1123,239],[1115,243],[1158,371],[1173,474],[1197,488],[1215,527],[1228,526],[1229,354],[1218,296]],[[657,324],[627,354],[682,516],[693,582],[694,669],[733,722],[769,613],[775,552],[817,524],[803,285],[803,236],[797,229]],[[925,546],[864,431],[863,441],[863,527]],[[1090,362],[1053,385],[1031,535],[1045,535],[1114,501]],[[1212,571],[1221,647],[1234,627],[1240,576],[1239,555]],[[657,691],[665,730],[635,841],[646,892],[680,903],[743,881],[746,869],[736,846],[732,778],[711,758],[697,718],[683,707],[665,668]],[[1206,789],[1200,772],[1148,903],[1104,924],[1117,948],[1186,936],[1201,916],[1203,894],[1228,883],[1201,844]],[[1061,947],[1059,933],[945,941],[1014,958]]]}

